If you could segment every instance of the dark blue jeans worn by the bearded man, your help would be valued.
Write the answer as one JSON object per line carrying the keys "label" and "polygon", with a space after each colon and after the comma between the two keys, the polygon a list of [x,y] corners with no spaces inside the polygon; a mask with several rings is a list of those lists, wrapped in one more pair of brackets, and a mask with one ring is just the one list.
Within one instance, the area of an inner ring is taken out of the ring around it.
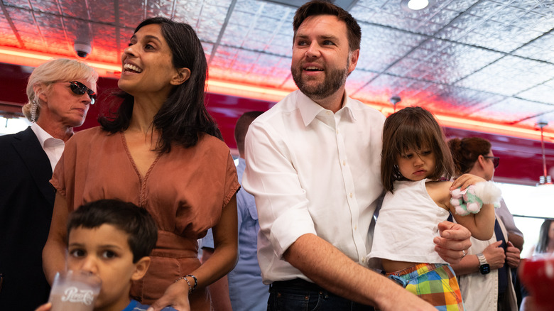
{"label": "dark blue jeans worn by the bearded man", "polygon": [[269,293],[268,311],[374,311],[301,279],[274,282]]}

